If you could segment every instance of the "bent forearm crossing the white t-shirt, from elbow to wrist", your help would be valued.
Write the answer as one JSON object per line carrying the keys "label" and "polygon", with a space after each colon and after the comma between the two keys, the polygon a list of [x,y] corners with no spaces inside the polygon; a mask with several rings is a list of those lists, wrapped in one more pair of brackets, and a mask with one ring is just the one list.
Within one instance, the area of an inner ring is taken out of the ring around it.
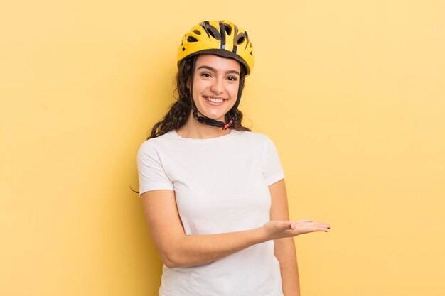
{"label": "bent forearm crossing the white t-shirt, from elbow to wrist", "polygon": [[170,268],[200,265],[267,240],[262,227],[224,234],[183,236],[176,239],[176,246],[164,254],[163,261]]}

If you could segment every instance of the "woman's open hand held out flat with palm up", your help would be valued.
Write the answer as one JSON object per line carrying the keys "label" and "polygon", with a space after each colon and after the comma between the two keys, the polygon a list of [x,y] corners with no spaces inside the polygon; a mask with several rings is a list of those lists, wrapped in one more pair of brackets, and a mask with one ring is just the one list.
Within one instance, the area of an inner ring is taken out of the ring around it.
{"label": "woman's open hand held out flat with palm up", "polygon": [[322,222],[315,222],[311,219],[299,219],[292,221],[269,221],[263,226],[266,236],[269,239],[282,239],[285,237],[308,234],[309,232],[325,231],[331,226]]}

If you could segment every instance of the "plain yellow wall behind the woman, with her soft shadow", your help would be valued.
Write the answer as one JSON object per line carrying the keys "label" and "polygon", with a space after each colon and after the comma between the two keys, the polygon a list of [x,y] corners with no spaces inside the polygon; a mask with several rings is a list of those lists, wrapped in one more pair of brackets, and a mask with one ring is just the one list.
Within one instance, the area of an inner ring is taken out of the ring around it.
{"label": "plain yellow wall behind the woman, with her soft shadow", "polygon": [[136,151],[204,19],[286,173],[302,295],[445,295],[444,1],[0,3],[0,295],[157,295]]}

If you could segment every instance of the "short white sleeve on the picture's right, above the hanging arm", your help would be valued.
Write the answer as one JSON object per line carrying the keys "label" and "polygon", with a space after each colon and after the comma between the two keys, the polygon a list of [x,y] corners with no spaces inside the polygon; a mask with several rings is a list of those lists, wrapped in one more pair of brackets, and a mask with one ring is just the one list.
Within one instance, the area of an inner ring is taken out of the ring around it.
{"label": "short white sleeve on the picture's right, above the hanging arm", "polygon": [[263,153],[263,175],[266,185],[272,185],[284,178],[282,164],[279,161],[277,148],[274,142],[267,136],[264,137],[264,153]]}

